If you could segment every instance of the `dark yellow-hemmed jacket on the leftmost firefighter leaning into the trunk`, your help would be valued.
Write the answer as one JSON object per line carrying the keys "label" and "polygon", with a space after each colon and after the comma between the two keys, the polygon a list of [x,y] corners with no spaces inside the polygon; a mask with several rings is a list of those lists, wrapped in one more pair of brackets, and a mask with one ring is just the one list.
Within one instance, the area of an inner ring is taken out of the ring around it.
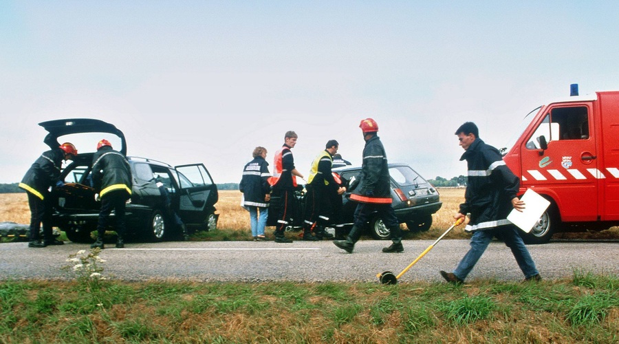
{"label": "dark yellow-hemmed jacket on the leftmost firefighter leaning into the trunk", "polygon": [[21,183],[18,186],[32,195],[45,198],[47,189],[58,182],[58,177],[61,174],[61,166],[63,163],[64,153],[62,149],[54,149],[45,151],[36,161],[30,166],[28,172],[23,176]]}

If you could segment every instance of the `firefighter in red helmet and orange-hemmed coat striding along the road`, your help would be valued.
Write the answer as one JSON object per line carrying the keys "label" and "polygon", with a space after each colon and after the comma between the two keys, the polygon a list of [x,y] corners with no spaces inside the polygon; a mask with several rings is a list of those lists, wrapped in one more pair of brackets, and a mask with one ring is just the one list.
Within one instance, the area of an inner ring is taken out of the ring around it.
{"label": "firefighter in red helmet and orange-hemmed coat striding along the road", "polygon": [[352,253],[355,243],[361,236],[362,228],[367,224],[369,216],[376,211],[384,225],[391,230],[391,241],[393,241],[391,246],[383,248],[382,252],[404,252],[400,222],[391,207],[391,178],[387,154],[384,152],[380,138],[376,135],[378,124],[375,120],[367,118],[361,121],[359,127],[365,140],[363,162],[359,178],[350,186],[353,190],[350,199],[359,204],[355,210],[354,225],[348,237],[345,240],[335,240],[333,243],[346,252]]}

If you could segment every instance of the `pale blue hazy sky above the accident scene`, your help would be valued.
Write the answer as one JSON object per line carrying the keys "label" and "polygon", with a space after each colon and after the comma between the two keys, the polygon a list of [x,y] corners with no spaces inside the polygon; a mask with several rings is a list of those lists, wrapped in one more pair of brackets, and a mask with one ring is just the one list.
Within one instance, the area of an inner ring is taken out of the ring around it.
{"label": "pale blue hazy sky above the accident scene", "polygon": [[228,183],[254,147],[272,162],[288,130],[303,175],[330,139],[360,164],[370,117],[389,162],[450,179],[466,174],[463,122],[501,148],[570,84],[619,89],[617,13],[619,1],[0,0],[0,183],[48,149],[38,123],[61,118],[105,120],[128,155],[203,162]]}

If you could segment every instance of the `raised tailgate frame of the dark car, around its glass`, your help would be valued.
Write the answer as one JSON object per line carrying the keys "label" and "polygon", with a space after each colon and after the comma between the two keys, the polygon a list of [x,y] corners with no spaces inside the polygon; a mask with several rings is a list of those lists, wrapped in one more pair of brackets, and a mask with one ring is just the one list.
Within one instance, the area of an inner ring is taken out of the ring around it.
{"label": "raised tailgate frame of the dark car, around its glass", "polygon": [[127,155],[127,141],[124,138],[124,133],[111,123],[94,118],[67,118],[48,120],[39,123],[39,125],[47,130],[48,134],[43,142],[52,149],[58,148],[58,138],[61,136],[74,133],[111,133],[120,138],[120,153]]}

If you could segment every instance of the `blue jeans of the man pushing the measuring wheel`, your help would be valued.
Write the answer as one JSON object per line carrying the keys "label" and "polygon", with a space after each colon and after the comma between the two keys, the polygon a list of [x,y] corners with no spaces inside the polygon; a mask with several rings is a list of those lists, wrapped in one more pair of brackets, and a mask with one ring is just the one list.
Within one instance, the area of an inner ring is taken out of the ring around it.
{"label": "blue jeans of the man pushing the measuring wheel", "polygon": [[473,270],[481,255],[488,248],[488,244],[490,244],[493,237],[501,239],[512,250],[512,254],[526,278],[539,273],[535,268],[535,263],[529,254],[529,250],[527,250],[522,238],[518,235],[516,227],[501,226],[490,230],[477,230],[473,233],[473,237],[470,238],[470,250],[466,252],[466,255],[464,255],[453,274],[464,281],[470,270]]}

